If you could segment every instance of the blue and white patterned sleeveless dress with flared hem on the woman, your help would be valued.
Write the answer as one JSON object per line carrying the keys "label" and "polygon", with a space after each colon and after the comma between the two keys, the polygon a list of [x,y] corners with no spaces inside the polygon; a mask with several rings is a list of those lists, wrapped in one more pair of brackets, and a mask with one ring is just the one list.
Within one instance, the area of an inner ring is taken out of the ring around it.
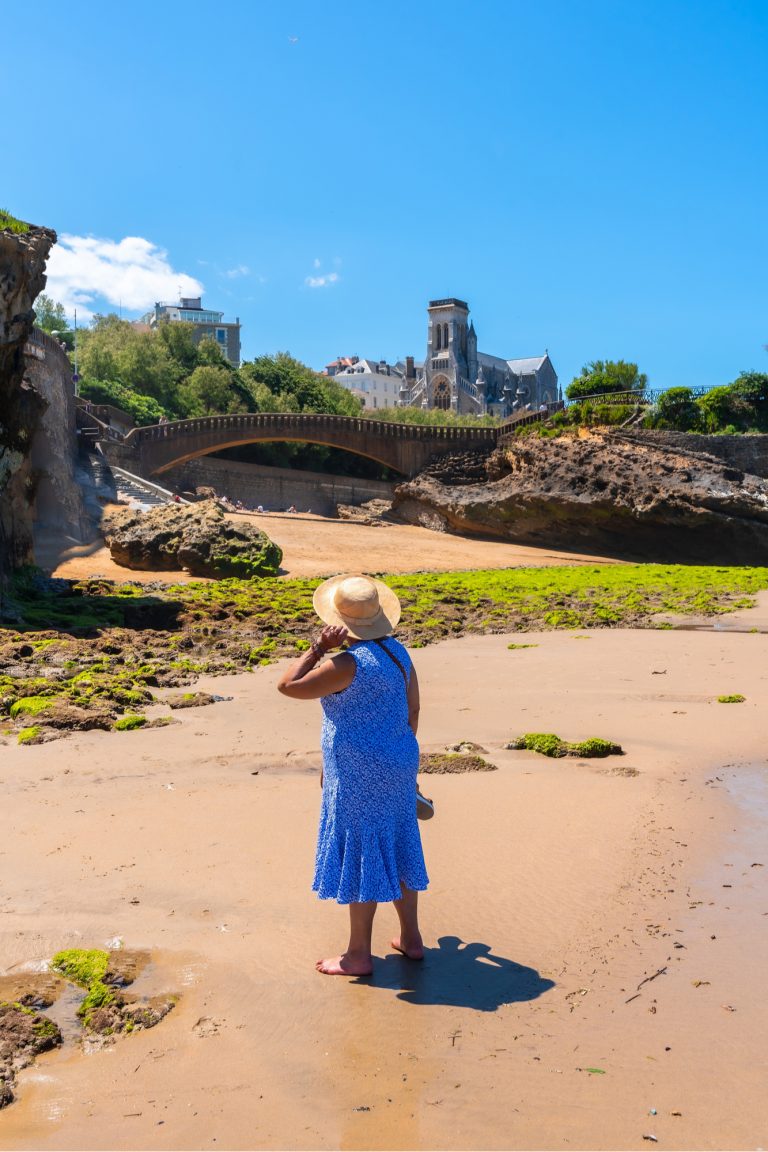
{"label": "blue and white patterned sleeveless dress with flared hem on the woman", "polygon": [[[410,677],[408,652],[383,642]],[[403,674],[379,644],[350,650],[355,679],[321,699],[322,806],[312,888],[340,904],[400,900],[428,877],[416,819],[419,745],[408,722]]]}

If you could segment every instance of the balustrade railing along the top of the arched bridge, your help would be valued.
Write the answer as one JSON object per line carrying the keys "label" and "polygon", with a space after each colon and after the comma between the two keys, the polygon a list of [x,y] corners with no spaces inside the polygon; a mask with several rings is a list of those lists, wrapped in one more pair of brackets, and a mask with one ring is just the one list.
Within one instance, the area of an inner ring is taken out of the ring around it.
{"label": "balustrade railing along the top of the arched bridge", "polygon": [[287,432],[295,431],[296,439],[302,440],[302,432],[332,429],[358,435],[403,440],[489,442],[496,438],[496,430],[492,426],[398,424],[394,420],[367,419],[360,416],[332,416],[328,412],[242,412],[234,416],[201,416],[190,420],[173,420],[168,424],[150,424],[132,429],[127,434],[126,442],[138,447],[147,441],[176,440],[180,437],[199,435],[205,432],[273,430],[283,437]]}

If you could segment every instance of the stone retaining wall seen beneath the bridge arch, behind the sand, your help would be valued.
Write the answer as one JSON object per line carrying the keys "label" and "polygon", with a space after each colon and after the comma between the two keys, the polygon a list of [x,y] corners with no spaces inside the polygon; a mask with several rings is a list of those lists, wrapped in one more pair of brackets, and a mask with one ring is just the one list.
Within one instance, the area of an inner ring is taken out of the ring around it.
{"label": "stone retaining wall seen beneath the bridge arch, behind the sand", "polygon": [[218,495],[242,500],[248,508],[263,505],[269,511],[284,511],[290,505],[296,505],[299,511],[311,508],[322,516],[335,515],[337,503],[389,500],[395,487],[383,480],[303,472],[294,468],[267,468],[212,456],[197,456],[169,469],[162,473],[161,482],[178,492],[211,487]]}

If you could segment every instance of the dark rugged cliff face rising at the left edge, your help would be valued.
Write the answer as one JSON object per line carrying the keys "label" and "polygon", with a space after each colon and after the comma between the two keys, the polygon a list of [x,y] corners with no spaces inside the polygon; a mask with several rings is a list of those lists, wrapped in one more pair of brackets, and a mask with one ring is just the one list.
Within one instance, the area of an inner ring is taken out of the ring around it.
{"label": "dark rugged cliff face rising at the left edge", "polygon": [[0,578],[32,559],[36,478],[30,452],[46,402],[24,380],[24,343],[55,240],[50,228],[30,228],[24,235],[0,232]]}

